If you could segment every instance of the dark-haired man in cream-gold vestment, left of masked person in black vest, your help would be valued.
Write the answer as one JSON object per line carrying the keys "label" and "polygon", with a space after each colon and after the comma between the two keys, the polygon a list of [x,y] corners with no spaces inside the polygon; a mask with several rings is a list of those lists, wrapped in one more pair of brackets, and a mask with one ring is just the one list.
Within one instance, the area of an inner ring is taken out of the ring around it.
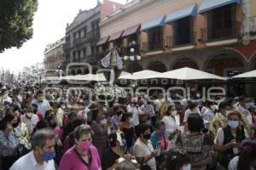
{"label": "dark-haired man in cream-gold vestment, left of masked person in black vest", "polygon": [[231,105],[228,100],[224,100],[218,105],[218,113],[213,117],[209,130],[212,136],[216,136],[220,127],[225,127],[228,123],[226,111],[231,110]]}

